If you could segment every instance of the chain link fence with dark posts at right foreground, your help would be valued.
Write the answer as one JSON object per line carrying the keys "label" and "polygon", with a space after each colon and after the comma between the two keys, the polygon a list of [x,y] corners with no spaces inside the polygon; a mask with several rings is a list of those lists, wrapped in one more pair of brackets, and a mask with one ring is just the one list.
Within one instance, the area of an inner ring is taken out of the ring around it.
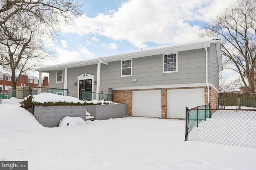
{"label": "chain link fence with dark posts at right foreground", "polygon": [[202,107],[186,108],[185,141],[256,148],[255,109]]}

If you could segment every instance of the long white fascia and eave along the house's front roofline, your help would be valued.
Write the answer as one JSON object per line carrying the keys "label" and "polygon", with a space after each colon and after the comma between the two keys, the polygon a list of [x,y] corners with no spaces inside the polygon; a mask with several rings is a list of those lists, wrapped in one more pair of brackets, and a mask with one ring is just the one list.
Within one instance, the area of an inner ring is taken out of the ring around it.
{"label": "long white fascia and eave along the house's front roofline", "polygon": [[188,50],[193,50],[193,49],[203,49],[204,43],[206,43],[207,47],[210,47],[210,43],[216,43],[216,42],[219,42],[219,40],[214,39],[214,38],[198,39],[195,41],[188,41],[185,43],[164,45],[164,46],[160,46],[160,47],[153,47],[150,49],[130,51],[130,52],[126,52],[126,53],[109,55],[109,56],[105,56],[105,57],[73,61],[73,62],[64,63],[64,64],[56,64],[56,65],[52,65],[52,66],[37,68],[36,71],[49,72],[51,70],[62,69],[65,67],[72,68],[72,67],[97,64],[100,60],[102,62],[104,62],[103,64],[105,64],[105,63],[112,62],[112,61],[134,59],[134,58],[146,57],[146,56],[150,56],[150,55],[159,55],[159,54],[163,54],[163,53],[174,53],[174,52],[188,51]]}

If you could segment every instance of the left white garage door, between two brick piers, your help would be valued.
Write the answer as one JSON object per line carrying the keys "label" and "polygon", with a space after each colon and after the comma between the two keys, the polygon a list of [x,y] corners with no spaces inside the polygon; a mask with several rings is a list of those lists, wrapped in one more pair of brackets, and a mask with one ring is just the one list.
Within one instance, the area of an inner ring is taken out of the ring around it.
{"label": "left white garage door, between two brick piers", "polygon": [[132,92],[132,115],[162,117],[161,90]]}

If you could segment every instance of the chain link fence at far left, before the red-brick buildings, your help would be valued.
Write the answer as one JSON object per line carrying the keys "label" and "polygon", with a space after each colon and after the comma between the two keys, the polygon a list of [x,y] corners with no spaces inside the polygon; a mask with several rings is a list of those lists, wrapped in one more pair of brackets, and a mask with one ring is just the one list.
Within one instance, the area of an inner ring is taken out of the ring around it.
{"label": "chain link fence at far left, before the red-brick buildings", "polygon": [[0,90],[0,104],[19,105],[25,97],[43,92],[68,96],[68,89],[26,86],[23,87],[22,90]]}

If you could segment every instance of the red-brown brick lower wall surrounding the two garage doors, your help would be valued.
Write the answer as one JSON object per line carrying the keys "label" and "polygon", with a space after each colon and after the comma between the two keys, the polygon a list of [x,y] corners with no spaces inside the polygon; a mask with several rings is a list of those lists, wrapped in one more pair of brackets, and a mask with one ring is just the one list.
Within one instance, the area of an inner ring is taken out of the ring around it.
{"label": "red-brown brick lower wall surrounding the two garage doors", "polygon": [[[208,104],[207,87],[186,87],[186,88],[155,88],[155,89],[136,89],[136,90],[113,90],[113,102],[127,104],[127,115],[132,116],[132,92],[143,90],[161,90],[162,91],[162,118],[167,118],[167,90],[171,89],[192,89],[204,88],[204,103]],[[217,106],[218,92],[210,87],[210,104],[212,108]]]}

